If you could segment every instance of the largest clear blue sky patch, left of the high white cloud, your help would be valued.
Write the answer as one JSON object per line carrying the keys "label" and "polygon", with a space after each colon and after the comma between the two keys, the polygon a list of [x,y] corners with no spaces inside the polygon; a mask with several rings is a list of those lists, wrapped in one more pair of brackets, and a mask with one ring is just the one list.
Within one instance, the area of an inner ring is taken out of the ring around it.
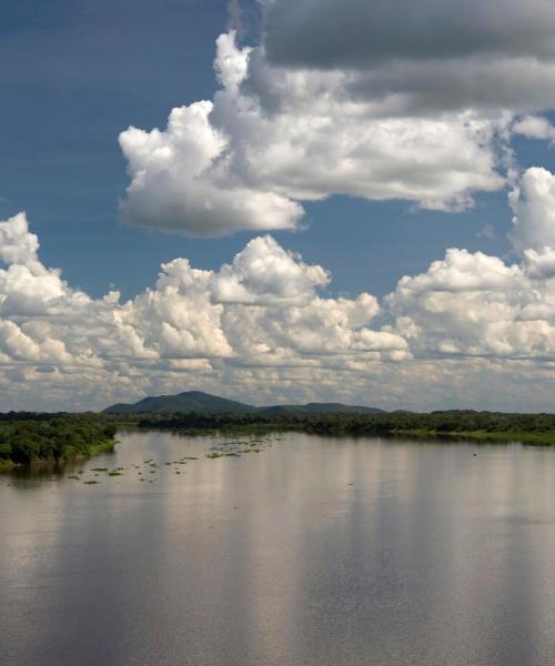
{"label": "largest clear blue sky patch, left of the high white cloud", "polygon": [[[118,134],[211,97],[224,2],[3,3],[1,212],[26,210],[49,265],[92,293],[128,294],[190,242],[118,221]],[[212,262],[212,252],[199,249]],[[99,262],[99,258],[102,258]],[[218,261],[218,260],[216,260]]]}

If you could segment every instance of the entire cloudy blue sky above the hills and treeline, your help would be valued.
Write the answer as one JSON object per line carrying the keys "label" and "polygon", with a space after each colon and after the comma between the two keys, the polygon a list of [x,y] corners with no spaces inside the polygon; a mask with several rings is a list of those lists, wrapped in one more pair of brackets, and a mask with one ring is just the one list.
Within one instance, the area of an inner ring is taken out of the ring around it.
{"label": "entire cloudy blue sky above the hills and treeline", "polygon": [[549,0],[0,6],[0,410],[553,411]]}

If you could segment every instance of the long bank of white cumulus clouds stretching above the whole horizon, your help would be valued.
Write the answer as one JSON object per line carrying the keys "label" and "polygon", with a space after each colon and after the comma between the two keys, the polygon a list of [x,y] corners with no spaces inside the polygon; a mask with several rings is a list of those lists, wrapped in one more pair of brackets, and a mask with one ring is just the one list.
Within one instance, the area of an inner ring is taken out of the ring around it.
{"label": "long bank of white cumulus clouds stretching above the whole horizon", "polygon": [[20,213],[0,222],[3,408],[193,386],[259,403],[548,408],[536,387],[555,364],[554,178],[529,169],[509,195],[515,263],[451,249],[383,303],[326,296],[330,273],[270,235],[216,271],[175,259],[132,300],[92,299],[41,263]]}

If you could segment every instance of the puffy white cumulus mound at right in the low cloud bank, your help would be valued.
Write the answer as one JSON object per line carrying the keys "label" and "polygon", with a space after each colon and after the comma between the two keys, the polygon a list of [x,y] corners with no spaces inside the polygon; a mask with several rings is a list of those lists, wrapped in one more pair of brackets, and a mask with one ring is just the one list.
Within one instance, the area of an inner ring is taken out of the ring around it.
{"label": "puffy white cumulus mound at right in the low cloud bank", "polygon": [[495,356],[555,362],[555,258],[522,264],[448,250],[420,275],[403,278],[389,305],[416,356]]}

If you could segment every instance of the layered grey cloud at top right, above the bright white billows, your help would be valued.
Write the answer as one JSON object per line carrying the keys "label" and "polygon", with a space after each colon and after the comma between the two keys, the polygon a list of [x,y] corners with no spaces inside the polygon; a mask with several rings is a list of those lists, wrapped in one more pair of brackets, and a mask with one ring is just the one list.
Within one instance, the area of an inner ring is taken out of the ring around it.
{"label": "layered grey cloud at top right, above the bright white billows", "polygon": [[553,107],[549,0],[265,0],[270,62],[353,72],[370,98],[406,107]]}

